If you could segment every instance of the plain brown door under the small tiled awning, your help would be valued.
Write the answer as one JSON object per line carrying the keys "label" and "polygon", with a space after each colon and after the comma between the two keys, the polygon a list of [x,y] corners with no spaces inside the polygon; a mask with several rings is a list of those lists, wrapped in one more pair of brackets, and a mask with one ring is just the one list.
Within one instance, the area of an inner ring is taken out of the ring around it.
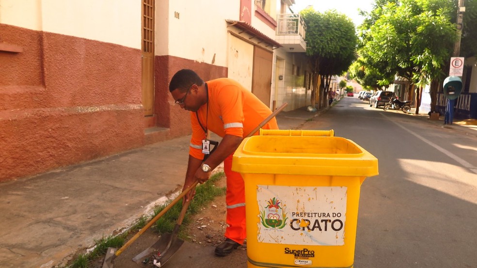
{"label": "plain brown door under the small tiled awning", "polygon": [[254,71],[252,75],[252,93],[270,107],[271,69],[273,53],[254,47]]}

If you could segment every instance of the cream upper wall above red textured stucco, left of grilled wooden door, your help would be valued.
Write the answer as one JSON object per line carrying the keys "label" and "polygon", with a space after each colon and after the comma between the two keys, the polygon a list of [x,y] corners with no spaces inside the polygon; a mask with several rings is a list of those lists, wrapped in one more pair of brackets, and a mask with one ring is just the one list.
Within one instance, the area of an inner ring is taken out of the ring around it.
{"label": "cream upper wall above red textured stucco, left of grilled wooden door", "polygon": [[141,49],[141,3],[0,0],[0,23]]}

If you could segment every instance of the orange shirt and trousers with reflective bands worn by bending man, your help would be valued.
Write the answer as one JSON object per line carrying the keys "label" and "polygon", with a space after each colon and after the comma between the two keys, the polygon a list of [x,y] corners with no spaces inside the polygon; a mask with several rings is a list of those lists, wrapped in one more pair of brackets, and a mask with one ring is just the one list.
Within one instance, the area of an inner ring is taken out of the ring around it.
{"label": "orange shirt and trousers with reflective bands worn by bending man", "polygon": [[[197,111],[200,124],[221,137],[225,134],[244,137],[271,114],[269,107],[235,80],[219,78],[206,83],[208,87],[208,116],[206,119],[207,104],[204,104]],[[191,112],[192,138],[189,153],[197,159],[204,158],[202,140],[206,136],[200,124],[197,121],[196,113]],[[278,129],[276,119],[271,119],[262,129]],[[225,230],[225,238],[243,244],[247,237],[244,182],[242,176],[231,169],[232,155],[223,161],[223,166],[227,177],[225,200],[228,227]]]}

